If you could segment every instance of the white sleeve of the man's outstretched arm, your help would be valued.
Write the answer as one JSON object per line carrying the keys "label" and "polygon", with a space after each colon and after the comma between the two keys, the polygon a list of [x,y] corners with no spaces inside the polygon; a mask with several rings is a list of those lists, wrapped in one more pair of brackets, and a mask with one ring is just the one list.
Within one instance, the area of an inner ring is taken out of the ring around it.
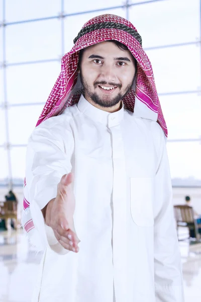
{"label": "white sleeve of the man's outstretched arm", "polygon": [[[65,142],[62,137],[65,137]],[[36,127],[29,139],[24,193],[30,203],[28,211],[35,227],[34,232],[28,233],[28,236],[33,235],[30,236],[30,241],[37,250],[44,250],[49,246],[59,254],[68,252],[58,243],[53,230],[46,225],[41,209],[56,197],[61,177],[71,171],[72,152],[71,131],[55,123],[54,118]]]}

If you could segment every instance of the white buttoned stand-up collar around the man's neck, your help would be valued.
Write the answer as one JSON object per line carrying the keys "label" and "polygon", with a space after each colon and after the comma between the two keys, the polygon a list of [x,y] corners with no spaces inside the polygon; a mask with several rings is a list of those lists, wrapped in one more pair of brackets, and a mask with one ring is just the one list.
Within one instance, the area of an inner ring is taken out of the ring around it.
{"label": "white buttoned stand-up collar around the man's neck", "polygon": [[90,104],[83,95],[81,95],[79,102],[77,103],[79,111],[87,115],[95,122],[104,124],[105,126],[112,127],[118,125],[124,118],[124,103],[122,102],[122,108],[116,112],[110,113],[96,108]]}

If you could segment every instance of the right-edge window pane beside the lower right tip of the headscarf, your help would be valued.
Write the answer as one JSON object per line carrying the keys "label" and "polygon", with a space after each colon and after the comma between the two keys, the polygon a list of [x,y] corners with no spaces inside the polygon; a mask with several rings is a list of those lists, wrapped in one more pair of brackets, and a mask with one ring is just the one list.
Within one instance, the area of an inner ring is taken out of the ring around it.
{"label": "right-edge window pane beside the lower right tip of the headscarf", "polygon": [[161,96],[168,139],[201,137],[201,97],[196,94]]}

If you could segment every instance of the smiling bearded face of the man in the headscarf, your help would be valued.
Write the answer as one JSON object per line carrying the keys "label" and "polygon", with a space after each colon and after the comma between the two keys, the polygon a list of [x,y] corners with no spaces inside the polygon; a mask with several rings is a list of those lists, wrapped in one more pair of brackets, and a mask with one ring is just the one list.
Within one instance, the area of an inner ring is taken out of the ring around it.
{"label": "smiling bearded face of the man in the headscarf", "polygon": [[134,75],[133,55],[113,42],[97,43],[83,52],[80,78],[85,99],[100,107],[117,105],[131,89]]}

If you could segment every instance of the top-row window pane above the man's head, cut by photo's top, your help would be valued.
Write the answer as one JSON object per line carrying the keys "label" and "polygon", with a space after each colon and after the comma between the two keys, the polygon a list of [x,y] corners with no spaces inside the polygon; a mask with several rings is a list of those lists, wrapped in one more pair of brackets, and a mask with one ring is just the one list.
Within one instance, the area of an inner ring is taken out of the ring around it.
{"label": "top-row window pane above the man's head, cut by photo's top", "polygon": [[[75,3],[69,0],[65,0],[65,13],[78,13],[78,12],[86,12],[86,11],[94,11],[98,9],[106,9],[106,8],[112,8],[117,6],[122,6],[124,3],[122,0],[102,0],[95,2],[94,0],[87,0],[87,1],[79,1],[76,6]],[[105,14],[105,12],[97,12],[94,16]],[[118,14],[115,14],[118,15]],[[90,19],[90,18],[89,18]],[[88,20],[89,20],[88,19]]]}

